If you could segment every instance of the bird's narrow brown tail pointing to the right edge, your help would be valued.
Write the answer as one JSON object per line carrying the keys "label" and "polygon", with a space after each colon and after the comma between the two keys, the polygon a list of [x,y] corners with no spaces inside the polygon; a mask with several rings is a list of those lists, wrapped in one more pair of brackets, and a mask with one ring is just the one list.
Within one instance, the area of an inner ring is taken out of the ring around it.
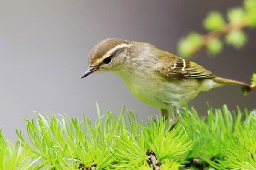
{"label": "bird's narrow brown tail pointing to the right edge", "polygon": [[224,79],[222,77],[214,77],[212,78],[213,81],[225,84],[225,85],[240,85],[241,86],[241,91],[244,95],[247,95],[249,91],[251,91],[252,85],[246,84],[244,82],[239,82],[236,80],[231,80],[231,79]]}

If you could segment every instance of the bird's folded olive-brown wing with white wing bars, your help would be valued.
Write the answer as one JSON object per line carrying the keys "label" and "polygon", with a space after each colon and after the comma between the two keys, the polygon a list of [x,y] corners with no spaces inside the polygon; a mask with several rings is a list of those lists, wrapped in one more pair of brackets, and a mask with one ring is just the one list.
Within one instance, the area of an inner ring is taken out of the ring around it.
{"label": "bird's folded olive-brown wing with white wing bars", "polygon": [[201,65],[177,57],[174,54],[159,58],[156,62],[156,71],[174,79],[207,79],[216,77],[215,74]]}

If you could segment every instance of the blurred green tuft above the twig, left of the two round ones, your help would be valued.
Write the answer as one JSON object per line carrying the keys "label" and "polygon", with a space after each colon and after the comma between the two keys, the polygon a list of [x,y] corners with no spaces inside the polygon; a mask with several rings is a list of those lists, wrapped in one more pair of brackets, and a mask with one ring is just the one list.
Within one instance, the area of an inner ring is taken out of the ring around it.
{"label": "blurred green tuft above the twig, left of the two round ones", "polygon": [[225,25],[225,21],[219,12],[210,12],[203,22],[206,29],[210,31],[221,30]]}

